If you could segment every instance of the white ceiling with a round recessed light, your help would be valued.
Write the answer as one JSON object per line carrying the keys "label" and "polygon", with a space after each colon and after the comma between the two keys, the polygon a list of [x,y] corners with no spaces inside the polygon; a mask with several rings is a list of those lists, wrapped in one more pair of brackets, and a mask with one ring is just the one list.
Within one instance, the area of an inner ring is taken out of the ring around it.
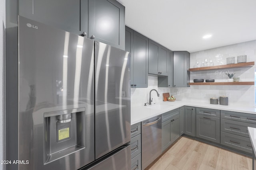
{"label": "white ceiling with a round recessed light", "polygon": [[[256,40],[256,0],[118,0],[128,27],[190,53]],[[212,34],[209,39],[203,39]]]}

